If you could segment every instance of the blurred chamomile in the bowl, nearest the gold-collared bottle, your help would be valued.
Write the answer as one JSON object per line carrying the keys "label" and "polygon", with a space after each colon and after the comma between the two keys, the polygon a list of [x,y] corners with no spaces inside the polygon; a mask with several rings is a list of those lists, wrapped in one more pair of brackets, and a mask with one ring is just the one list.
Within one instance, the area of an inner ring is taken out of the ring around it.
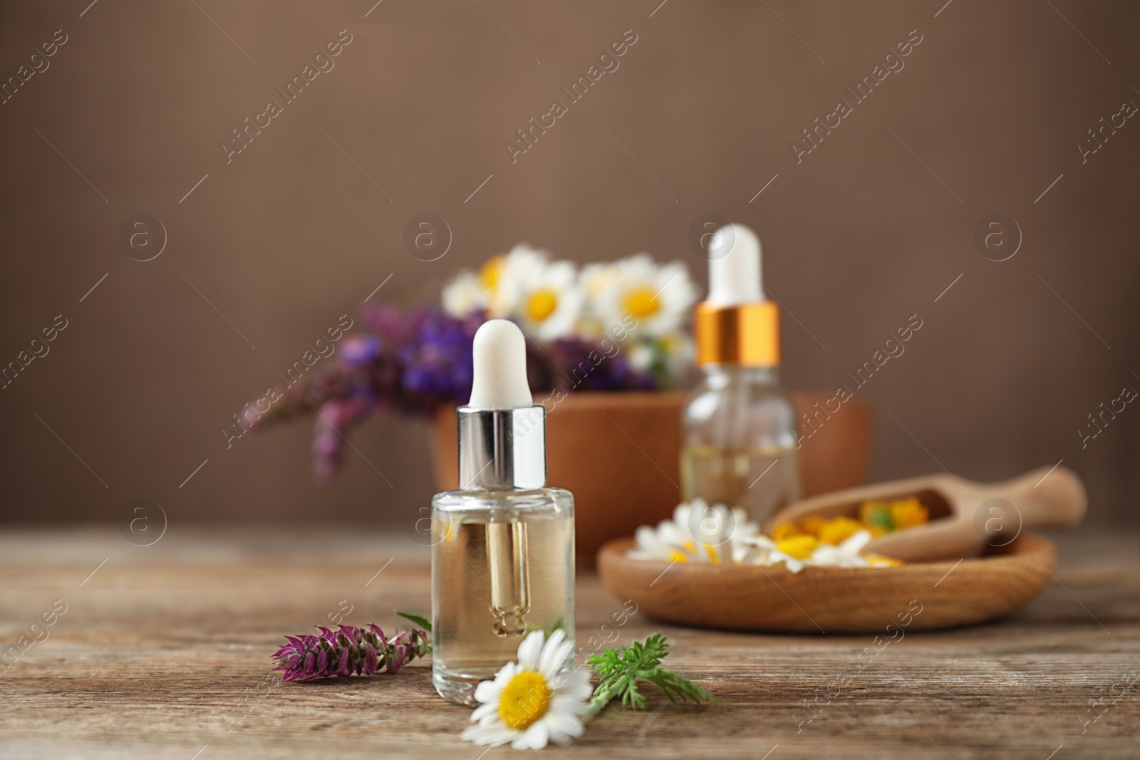
{"label": "blurred chamomile in the bowl, nearest the gold-collared bottle", "polygon": [[679,261],[658,265],[648,253],[583,270],[591,312],[606,327],[637,320],[638,334],[676,332],[697,302],[697,287]]}

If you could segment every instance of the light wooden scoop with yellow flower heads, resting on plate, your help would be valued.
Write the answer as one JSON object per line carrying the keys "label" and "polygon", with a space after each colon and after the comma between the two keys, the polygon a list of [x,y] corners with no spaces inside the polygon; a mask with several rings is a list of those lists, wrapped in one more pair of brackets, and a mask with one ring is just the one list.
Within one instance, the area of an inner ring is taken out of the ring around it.
{"label": "light wooden scoop with yellow flower heads, resting on plate", "polygon": [[773,515],[764,532],[805,517],[857,517],[864,501],[915,497],[930,515],[925,525],[872,539],[864,551],[904,562],[960,559],[985,545],[1004,546],[1027,528],[1074,528],[1084,517],[1084,484],[1068,467],[1040,467],[1001,483],[974,483],[953,475],[925,475],[822,493]]}

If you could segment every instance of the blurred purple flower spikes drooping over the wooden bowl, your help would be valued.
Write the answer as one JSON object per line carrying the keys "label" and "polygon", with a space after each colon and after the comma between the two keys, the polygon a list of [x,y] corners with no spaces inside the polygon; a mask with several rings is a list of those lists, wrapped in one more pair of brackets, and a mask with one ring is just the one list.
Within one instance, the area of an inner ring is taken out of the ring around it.
{"label": "blurred purple flower spikes drooping over the wooden bowl", "polygon": [[[360,321],[368,332],[347,336],[335,365],[290,385],[253,425],[314,415],[314,475],[321,483],[343,465],[349,430],[370,414],[429,417],[471,397],[471,344],[484,321],[481,313],[457,319],[439,307],[366,304]],[[658,375],[634,369],[622,352],[606,357],[601,345],[575,338],[542,346],[527,341],[527,374],[536,393],[662,386]]]}

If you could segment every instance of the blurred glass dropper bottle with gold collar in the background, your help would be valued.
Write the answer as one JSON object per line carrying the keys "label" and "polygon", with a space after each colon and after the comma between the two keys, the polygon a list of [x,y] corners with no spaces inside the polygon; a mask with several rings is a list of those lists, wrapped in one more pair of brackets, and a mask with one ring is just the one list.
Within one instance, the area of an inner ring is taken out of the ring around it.
{"label": "blurred glass dropper bottle with gold collar in the background", "polygon": [[780,387],[780,311],[764,295],[760,242],[726,224],[709,245],[697,304],[701,378],[684,411],[684,500],[747,509],[764,522],[800,498],[796,412]]}

